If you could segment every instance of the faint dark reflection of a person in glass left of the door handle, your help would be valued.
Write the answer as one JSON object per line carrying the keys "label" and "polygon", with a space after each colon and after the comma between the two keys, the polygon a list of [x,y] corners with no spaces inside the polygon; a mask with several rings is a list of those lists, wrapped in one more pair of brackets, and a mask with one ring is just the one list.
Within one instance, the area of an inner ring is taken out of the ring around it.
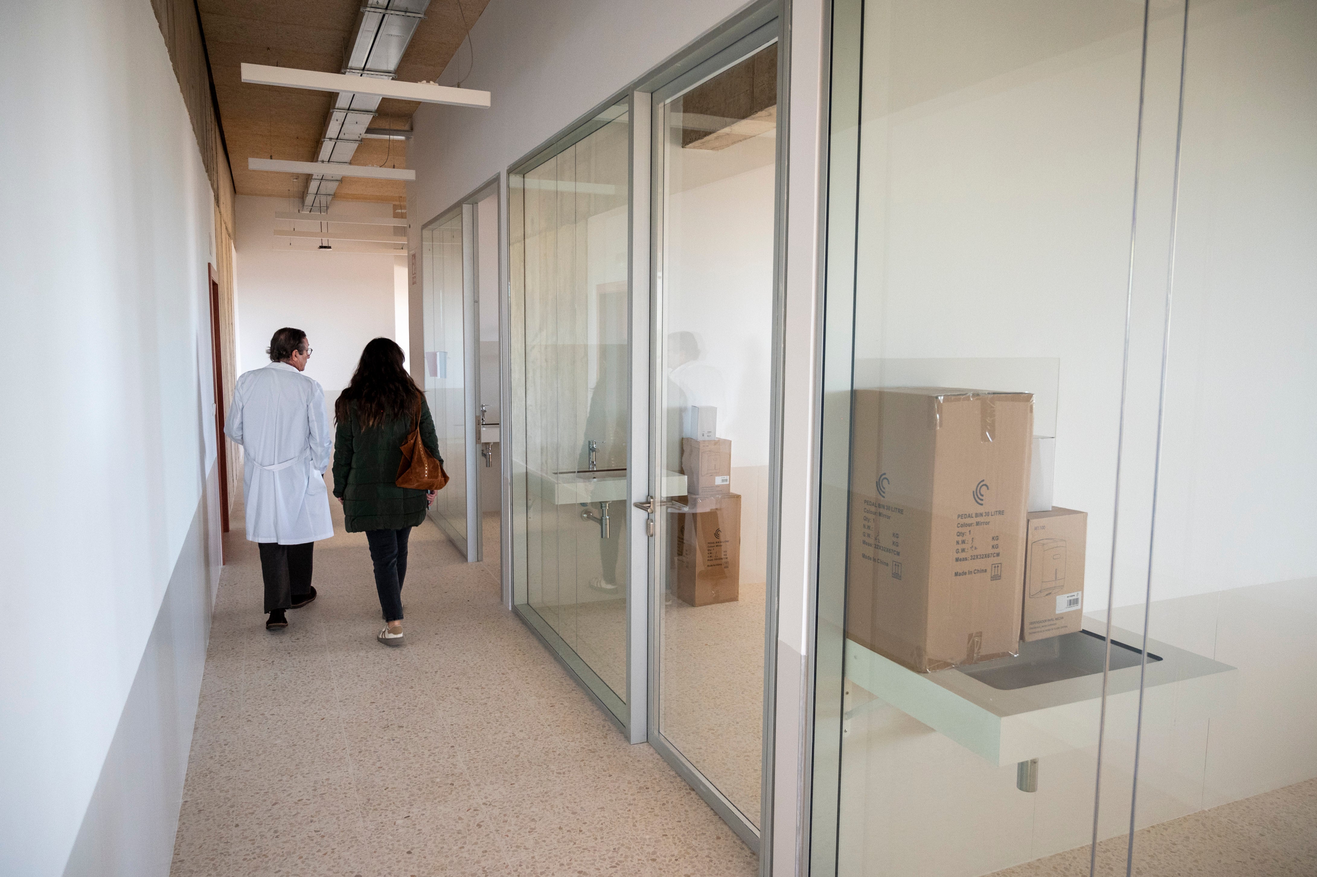
{"label": "faint dark reflection of a person in glass left of the door handle", "polygon": [[[627,477],[627,352],[624,344],[601,344],[599,373],[590,392],[590,408],[585,419],[585,435],[581,440],[577,469],[601,471],[603,478]],[[603,515],[601,503],[581,503],[583,516],[591,525],[599,527],[601,575],[591,575],[589,585],[605,594],[620,594],[618,586],[618,558],[623,556],[622,546],[627,540],[627,503],[608,503],[608,536],[603,539]]]}

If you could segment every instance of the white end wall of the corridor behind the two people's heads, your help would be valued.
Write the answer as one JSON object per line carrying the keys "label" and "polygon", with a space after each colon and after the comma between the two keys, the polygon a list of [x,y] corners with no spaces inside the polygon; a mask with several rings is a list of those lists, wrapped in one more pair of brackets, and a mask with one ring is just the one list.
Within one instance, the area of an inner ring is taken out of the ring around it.
{"label": "white end wall of the corridor behind the two people's heads", "polygon": [[[324,387],[325,404],[332,411],[366,342],[381,336],[398,340],[396,257],[295,250],[287,245],[290,238],[274,236],[275,228],[291,228],[291,223],[274,219],[277,211],[288,209],[284,198],[238,195],[236,199],[233,296],[241,315],[238,369],[249,371],[270,362],[265,350],[277,329],[286,325],[302,329],[315,350],[307,374]],[[329,212],[390,217],[392,205],[335,201]]]}

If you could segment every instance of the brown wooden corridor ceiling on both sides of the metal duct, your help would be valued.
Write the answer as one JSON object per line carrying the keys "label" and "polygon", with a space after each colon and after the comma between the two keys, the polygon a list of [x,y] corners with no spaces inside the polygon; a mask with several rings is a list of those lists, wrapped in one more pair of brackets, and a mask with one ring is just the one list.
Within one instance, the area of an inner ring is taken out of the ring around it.
{"label": "brown wooden corridor ceiling on both sides of the metal duct", "polygon": [[[464,47],[466,29],[489,0],[432,0],[398,68],[403,82],[432,80]],[[300,198],[306,176],[249,171],[248,158],[315,161],[333,104],[329,92],[254,86],[242,82],[241,65],[257,63],[340,72],[361,0],[199,0],[202,29],[220,104],[220,121],[241,195]],[[385,99],[375,124],[410,128],[420,104]],[[471,111],[479,112],[479,111]],[[390,153],[390,145],[392,151]],[[366,140],[353,165],[406,167],[403,141]],[[406,203],[396,180],[348,178],[336,198]]]}

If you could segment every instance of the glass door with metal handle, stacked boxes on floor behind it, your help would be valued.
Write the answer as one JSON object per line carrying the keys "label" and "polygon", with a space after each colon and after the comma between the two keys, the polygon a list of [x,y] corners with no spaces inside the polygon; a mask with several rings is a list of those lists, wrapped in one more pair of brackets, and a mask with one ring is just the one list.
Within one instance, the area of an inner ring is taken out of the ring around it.
{"label": "glass door with metal handle, stacked boxes on floor behind it", "polygon": [[651,436],[665,499],[651,743],[751,847],[769,591],[774,36],[765,26],[653,99]]}

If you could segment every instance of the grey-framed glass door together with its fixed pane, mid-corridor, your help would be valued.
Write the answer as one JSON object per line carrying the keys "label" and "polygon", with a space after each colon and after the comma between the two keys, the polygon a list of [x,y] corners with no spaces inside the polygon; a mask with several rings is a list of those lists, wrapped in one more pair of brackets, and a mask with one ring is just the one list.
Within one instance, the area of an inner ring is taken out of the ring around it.
{"label": "grey-framed glass door together with its fixed pane, mid-corridor", "polygon": [[512,607],[752,849],[781,333],[764,8],[508,171]]}

